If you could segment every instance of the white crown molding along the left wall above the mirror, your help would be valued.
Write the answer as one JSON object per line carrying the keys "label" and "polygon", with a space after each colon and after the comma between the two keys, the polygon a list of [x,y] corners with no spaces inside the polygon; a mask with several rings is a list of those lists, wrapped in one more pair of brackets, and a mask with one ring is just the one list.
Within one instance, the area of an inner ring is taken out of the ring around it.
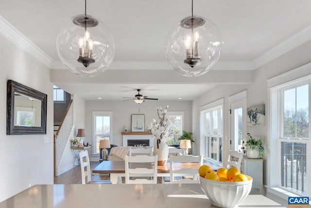
{"label": "white crown molding along the left wall above the mirror", "polygon": [[38,46],[30,39],[19,32],[12,24],[0,16],[0,34],[14,43],[21,50],[28,52],[40,62],[52,67],[53,59],[44,53]]}

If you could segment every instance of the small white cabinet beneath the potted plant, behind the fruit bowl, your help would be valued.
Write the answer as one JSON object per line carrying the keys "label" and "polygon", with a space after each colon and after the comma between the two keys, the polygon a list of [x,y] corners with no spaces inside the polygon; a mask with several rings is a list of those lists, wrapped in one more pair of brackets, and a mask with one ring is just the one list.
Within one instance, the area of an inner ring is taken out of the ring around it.
{"label": "small white cabinet beneath the potted plant, behind the fruit bowl", "polygon": [[263,159],[242,158],[241,173],[253,178],[252,188],[259,189],[263,194]]}

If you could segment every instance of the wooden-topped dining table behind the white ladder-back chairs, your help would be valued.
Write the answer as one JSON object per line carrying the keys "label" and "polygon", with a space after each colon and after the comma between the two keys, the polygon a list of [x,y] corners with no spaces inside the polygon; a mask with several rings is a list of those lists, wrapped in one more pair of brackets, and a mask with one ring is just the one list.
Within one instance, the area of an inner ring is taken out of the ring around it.
{"label": "wooden-topped dining table behind the white ladder-back chairs", "polygon": [[[140,167],[150,167],[150,163],[146,164],[139,164]],[[204,165],[210,166],[213,170],[218,170],[221,168],[221,165],[218,165],[214,162],[204,162]],[[174,168],[192,168],[192,169],[198,169],[197,163],[174,163]],[[122,179],[121,177],[125,177],[125,162],[124,161],[103,161],[98,166],[95,167],[95,169],[92,170],[93,175],[110,175],[110,181],[112,184],[121,184]],[[167,161],[167,163],[163,166],[158,165],[157,166],[157,176],[158,177],[170,177],[170,161]]]}

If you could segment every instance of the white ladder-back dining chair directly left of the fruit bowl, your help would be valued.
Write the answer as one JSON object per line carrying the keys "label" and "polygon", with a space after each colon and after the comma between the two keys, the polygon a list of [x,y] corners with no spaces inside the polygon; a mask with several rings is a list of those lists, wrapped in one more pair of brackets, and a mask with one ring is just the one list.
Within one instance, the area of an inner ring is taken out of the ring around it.
{"label": "white ladder-back dining chair directly left of the fruit bowl", "polygon": [[[178,169],[176,163],[196,163],[196,168]],[[200,183],[199,167],[203,165],[203,155],[170,155],[170,183]]]}

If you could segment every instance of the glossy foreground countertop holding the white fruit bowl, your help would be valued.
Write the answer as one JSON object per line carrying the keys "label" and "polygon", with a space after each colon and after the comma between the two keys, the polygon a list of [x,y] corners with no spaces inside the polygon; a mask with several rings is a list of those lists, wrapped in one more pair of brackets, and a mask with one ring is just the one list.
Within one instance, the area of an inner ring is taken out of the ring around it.
{"label": "glossy foreground countertop holding the white fruit bowl", "polygon": [[[0,208],[210,208],[200,184],[35,185],[0,202]],[[243,208],[283,207],[263,195],[248,195]]]}

